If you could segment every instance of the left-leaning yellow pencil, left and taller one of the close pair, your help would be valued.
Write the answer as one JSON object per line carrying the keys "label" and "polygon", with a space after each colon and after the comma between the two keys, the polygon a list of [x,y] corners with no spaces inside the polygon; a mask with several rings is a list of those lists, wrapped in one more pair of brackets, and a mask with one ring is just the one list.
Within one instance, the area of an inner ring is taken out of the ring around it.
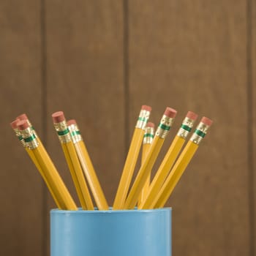
{"label": "left-leaning yellow pencil, left and taller one of the close pair", "polygon": [[83,170],[80,167],[80,162],[75,151],[75,146],[72,143],[71,135],[67,127],[67,121],[62,111],[53,113],[53,125],[59,135],[62,150],[67,160],[67,165],[75,184],[75,189],[78,193],[80,204],[84,210],[94,210],[94,205],[91,200],[89,189],[86,185],[86,180],[83,176]]}

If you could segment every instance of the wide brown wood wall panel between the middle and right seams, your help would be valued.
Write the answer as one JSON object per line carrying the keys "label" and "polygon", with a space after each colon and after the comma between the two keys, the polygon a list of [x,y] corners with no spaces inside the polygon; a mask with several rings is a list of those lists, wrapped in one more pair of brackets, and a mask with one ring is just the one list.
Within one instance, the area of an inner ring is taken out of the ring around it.
{"label": "wide brown wood wall panel between the middle and right seams", "polygon": [[156,122],[176,108],[173,135],[187,110],[214,120],[167,203],[173,255],[249,255],[246,2],[131,0],[128,13],[130,123],[142,104]]}

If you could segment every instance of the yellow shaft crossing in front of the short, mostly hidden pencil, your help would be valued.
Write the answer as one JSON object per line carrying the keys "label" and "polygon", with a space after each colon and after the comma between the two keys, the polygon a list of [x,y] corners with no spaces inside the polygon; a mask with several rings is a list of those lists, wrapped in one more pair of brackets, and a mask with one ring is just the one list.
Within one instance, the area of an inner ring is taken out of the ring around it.
{"label": "yellow shaft crossing in front of the short, mostly hidden pencil", "polygon": [[151,169],[154,165],[154,162],[157,159],[157,156],[159,154],[160,149],[162,148],[163,143],[163,138],[159,138],[159,136],[156,136],[154,138],[153,143],[148,151],[148,154],[146,154],[146,159],[143,162],[143,165],[140,167],[138,175],[136,176],[132,188],[130,189],[127,200],[124,203],[124,208],[132,209],[135,207],[141,189],[143,189],[146,179],[148,178],[148,174],[151,172]]}

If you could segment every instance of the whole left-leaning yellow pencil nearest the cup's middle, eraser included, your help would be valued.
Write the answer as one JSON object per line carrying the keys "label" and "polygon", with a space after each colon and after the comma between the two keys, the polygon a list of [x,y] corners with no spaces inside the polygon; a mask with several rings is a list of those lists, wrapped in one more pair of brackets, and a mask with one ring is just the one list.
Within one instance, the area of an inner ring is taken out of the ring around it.
{"label": "whole left-leaning yellow pencil nearest the cup's middle, eraser included", "polygon": [[86,145],[83,142],[82,136],[80,135],[78,124],[75,120],[69,120],[67,121],[67,125],[69,127],[72,141],[75,145],[75,150],[78,154],[78,159],[80,160],[80,165],[82,166],[83,173],[85,174],[86,180],[88,181],[91,193],[94,196],[97,208],[99,210],[108,210],[107,200],[105,199],[102,187],[99,184],[99,180],[86,149]]}

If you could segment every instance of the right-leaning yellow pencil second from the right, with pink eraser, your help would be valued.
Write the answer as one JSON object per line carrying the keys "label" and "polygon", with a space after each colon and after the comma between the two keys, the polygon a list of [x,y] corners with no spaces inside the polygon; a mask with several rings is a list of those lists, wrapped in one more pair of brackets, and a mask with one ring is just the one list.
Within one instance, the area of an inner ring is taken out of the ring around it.
{"label": "right-leaning yellow pencil second from the right, with pink eraser", "polygon": [[187,116],[184,118],[184,121],[181,124],[181,128],[178,130],[178,133],[174,138],[173,143],[171,143],[170,148],[165,155],[165,158],[162,160],[162,163],[159,166],[159,169],[157,170],[153,181],[151,182],[151,185],[148,189],[148,194],[146,195],[146,199],[140,204],[140,206],[138,206],[138,208],[148,208],[151,205],[152,200],[154,200],[154,198],[157,196],[159,189],[161,189],[165,178],[170,172],[173,163],[178,157],[178,153],[181,151],[181,148],[184,145],[185,140],[192,129],[196,118],[197,114],[193,113],[192,111],[189,111],[187,113]]}

